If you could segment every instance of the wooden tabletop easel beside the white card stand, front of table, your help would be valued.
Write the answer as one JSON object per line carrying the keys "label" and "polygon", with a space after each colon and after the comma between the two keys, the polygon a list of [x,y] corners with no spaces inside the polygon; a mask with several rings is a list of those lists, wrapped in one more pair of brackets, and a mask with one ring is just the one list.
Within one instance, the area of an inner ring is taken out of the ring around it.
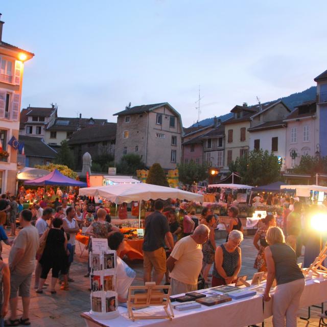
{"label": "wooden tabletop easel beside the white card stand, front of table", "polygon": [[[164,290],[168,293],[165,294]],[[132,294],[132,291],[145,291],[142,294]],[[145,286],[131,286],[128,290],[127,310],[128,317],[135,319],[170,319],[174,317],[173,307],[170,302],[171,288],[169,285],[155,285],[154,282],[145,283]],[[164,316],[145,316],[133,312],[133,309],[140,309],[149,306],[162,306],[166,315]],[[168,308],[169,307],[169,308]],[[170,310],[168,310],[170,309]]]}

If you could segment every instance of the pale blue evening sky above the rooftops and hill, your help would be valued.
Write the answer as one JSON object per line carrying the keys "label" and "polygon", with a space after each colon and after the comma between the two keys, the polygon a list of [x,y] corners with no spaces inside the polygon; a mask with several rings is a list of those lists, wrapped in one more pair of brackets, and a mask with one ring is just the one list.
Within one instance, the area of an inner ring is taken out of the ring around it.
{"label": "pale blue evening sky above the rooftops and hill", "polygon": [[102,118],[169,102],[188,127],[315,85],[327,69],[316,0],[2,0],[3,41],[33,52],[21,107]]}

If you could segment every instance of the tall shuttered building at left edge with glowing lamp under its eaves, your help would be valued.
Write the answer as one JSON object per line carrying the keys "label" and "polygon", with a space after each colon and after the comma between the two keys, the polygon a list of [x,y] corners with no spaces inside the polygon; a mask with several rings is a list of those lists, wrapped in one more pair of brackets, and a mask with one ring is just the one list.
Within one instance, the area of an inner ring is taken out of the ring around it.
{"label": "tall shuttered building at left edge with glowing lamp under its eaves", "polygon": [[18,140],[24,63],[34,54],[3,41],[3,26],[0,20],[0,194],[15,194],[18,151],[8,141]]}

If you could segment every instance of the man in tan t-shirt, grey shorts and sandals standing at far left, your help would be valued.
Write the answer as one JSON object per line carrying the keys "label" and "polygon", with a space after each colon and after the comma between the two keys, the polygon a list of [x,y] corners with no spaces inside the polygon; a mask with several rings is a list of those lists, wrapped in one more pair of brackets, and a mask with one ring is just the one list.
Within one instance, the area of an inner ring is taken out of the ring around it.
{"label": "man in tan t-shirt, grey shorts and sandals standing at far left", "polygon": [[[32,213],[23,210],[19,216],[20,226],[23,228],[14,240],[9,253],[10,268],[10,311],[11,315],[7,325],[28,324],[30,309],[30,287],[36,250],[39,247],[37,229],[31,224]],[[22,300],[22,317],[17,319],[17,291]]]}

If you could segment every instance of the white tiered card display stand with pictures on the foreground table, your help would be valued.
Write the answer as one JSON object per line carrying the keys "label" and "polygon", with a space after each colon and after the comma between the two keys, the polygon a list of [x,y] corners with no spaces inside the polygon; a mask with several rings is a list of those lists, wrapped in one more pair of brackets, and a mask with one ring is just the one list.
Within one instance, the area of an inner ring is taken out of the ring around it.
{"label": "white tiered card display stand with pictures on the foreground table", "polygon": [[[91,310],[95,319],[112,319],[119,316],[118,294],[116,292],[116,251],[97,247],[92,239],[92,252],[89,253],[91,268]],[[105,240],[107,242],[107,240]]]}

